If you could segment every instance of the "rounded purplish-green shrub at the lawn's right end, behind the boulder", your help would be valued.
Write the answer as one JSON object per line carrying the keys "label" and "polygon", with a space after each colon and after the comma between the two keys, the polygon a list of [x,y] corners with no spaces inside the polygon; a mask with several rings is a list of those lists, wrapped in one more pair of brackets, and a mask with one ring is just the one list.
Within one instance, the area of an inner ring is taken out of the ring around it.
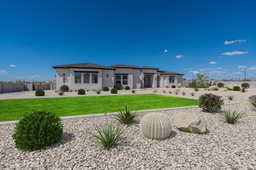
{"label": "rounded purplish-green shrub at the lawn's right end, behind the boulder", "polygon": [[204,94],[199,97],[199,107],[203,109],[204,112],[216,112],[220,111],[222,105],[224,105],[224,100],[221,96],[213,94]]}

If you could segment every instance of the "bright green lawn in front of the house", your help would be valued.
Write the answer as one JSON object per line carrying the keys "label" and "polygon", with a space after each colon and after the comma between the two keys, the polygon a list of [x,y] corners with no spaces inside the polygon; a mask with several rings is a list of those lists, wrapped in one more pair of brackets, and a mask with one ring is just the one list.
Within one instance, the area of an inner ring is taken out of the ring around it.
{"label": "bright green lawn in front of the house", "polygon": [[0,100],[0,121],[20,120],[38,110],[53,111],[57,116],[117,112],[126,104],[131,110],[145,110],[197,105],[198,101],[156,94]]}

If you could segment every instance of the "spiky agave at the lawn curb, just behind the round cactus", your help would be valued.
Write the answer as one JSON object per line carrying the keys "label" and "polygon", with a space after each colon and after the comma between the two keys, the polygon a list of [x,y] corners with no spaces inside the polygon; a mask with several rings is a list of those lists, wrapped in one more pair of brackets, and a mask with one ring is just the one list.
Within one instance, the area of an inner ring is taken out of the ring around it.
{"label": "spiky agave at the lawn curb, just behind the round cactus", "polygon": [[115,119],[120,121],[122,124],[131,124],[133,121],[135,121],[139,115],[137,114],[137,111],[129,111],[127,109],[127,105],[125,105],[125,111],[119,110],[117,114],[114,114]]}

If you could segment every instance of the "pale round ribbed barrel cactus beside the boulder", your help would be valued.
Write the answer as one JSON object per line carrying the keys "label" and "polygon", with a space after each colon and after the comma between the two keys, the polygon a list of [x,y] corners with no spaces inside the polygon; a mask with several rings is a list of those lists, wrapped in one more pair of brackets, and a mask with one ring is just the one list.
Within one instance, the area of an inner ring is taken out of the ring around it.
{"label": "pale round ribbed barrel cactus beside the boulder", "polygon": [[163,113],[150,113],[141,120],[141,133],[149,139],[166,139],[171,134],[171,121]]}

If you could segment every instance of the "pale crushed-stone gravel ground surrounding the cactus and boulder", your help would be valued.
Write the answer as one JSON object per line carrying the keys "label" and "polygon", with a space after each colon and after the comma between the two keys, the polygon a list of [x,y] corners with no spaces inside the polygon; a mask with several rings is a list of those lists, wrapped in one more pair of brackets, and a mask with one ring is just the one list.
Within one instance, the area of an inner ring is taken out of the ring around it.
{"label": "pale crushed-stone gravel ground surrounding the cactus and boulder", "polygon": [[[192,90],[181,88],[180,91],[186,91],[185,97],[188,97]],[[195,98],[205,92],[208,91],[196,92]],[[256,112],[247,101],[249,96],[256,94],[256,89],[246,93],[212,93],[234,95],[239,104],[227,105],[224,109],[237,109],[245,112],[245,116],[237,124],[230,125],[220,120],[219,113],[204,113],[199,108],[163,111],[172,120],[170,138],[163,141],[144,138],[139,132],[138,120],[122,126],[127,139],[110,151],[96,146],[86,131],[93,131],[93,126],[108,122],[117,125],[112,116],[63,120],[61,142],[34,152],[16,150],[11,138],[15,125],[0,126],[0,169],[256,169]],[[203,116],[207,120],[208,133],[191,134],[177,130],[174,116],[181,112]],[[23,163],[14,164],[14,160]]]}

